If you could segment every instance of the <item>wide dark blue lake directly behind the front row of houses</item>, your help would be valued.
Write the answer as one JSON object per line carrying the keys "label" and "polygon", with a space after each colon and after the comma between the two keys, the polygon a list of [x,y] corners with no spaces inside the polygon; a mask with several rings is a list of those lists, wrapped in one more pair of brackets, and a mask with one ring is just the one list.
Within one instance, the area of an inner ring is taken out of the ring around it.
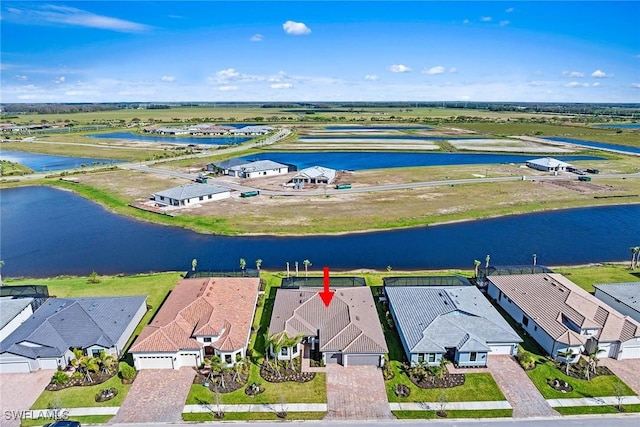
{"label": "wide dark blue lake directly behind the front row of houses", "polygon": [[[312,270],[392,266],[473,268],[495,265],[621,261],[637,245],[640,204],[570,209],[441,226],[310,237],[223,237],[160,226],[110,213],[71,192],[48,187],[0,190],[5,277],[46,277],[253,266],[284,270],[309,259]],[[292,232],[302,232],[295,226]]]}

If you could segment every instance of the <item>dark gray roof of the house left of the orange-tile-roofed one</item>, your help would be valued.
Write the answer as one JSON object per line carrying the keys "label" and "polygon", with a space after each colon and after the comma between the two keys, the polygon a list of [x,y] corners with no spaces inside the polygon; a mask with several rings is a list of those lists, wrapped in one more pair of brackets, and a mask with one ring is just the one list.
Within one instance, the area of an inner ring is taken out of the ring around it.
{"label": "dark gray roof of the house left of the orange-tile-roofed one", "polygon": [[146,300],[146,296],[49,298],[0,343],[0,353],[60,357],[71,347],[111,347]]}

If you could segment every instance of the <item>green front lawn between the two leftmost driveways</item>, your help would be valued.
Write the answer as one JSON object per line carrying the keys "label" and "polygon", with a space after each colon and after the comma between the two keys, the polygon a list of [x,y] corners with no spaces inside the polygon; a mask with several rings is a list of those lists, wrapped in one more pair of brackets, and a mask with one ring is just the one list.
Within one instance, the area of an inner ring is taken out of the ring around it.
{"label": "green front lawn between the two leftmost driveways", "polygon": [[[118,395],[106,402],[96,402],[95,395],[105,388],[115,387]],[[127,396],[130,384],[124,385],[116,375],[102,384],[86,387],[69,387],[59,391],[43,391],[31,406],[31,409],[89,408],[102,406],[120,406]]]}

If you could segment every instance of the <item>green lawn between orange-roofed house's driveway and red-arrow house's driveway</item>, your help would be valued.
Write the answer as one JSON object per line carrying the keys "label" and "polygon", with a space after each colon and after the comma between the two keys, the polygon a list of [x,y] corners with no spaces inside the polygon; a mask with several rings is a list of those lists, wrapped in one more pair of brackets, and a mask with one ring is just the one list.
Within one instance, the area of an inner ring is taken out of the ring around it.
{"label": "green lawn between orange-roofed house's driveway and red-arrow house's driveway", "polygon": [[[257,365],[251,365],[249,383],[261,384],[265,391],[256,397],[249,397],[244,393],[244,388],[231,393],[221,393],[220,403],[326,403],[327,389],[324,373],[317,373],[313,381],[306,383],[269,383],[260,377]],[[206,387],[193,384],[187,396],[187,405],[215,402],[215,394]]]}

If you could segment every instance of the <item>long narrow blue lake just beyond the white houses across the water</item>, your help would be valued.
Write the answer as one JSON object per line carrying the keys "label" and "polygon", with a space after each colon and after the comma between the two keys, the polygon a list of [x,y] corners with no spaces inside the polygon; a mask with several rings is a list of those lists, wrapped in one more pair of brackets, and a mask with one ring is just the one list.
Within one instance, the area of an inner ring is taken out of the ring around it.
{"label": "long narrow blue lake just beyond the white houses across the water", "polygon": [[[273,160],[296,165],[298,169],[325,166],[338,170],[364,170],[414,166],[484,165],[522,163],[535,155],[471,154],[471,153],[398,153],[398,152],[318,152],[318,153],[259,153],[241,157],[244,160]],[[556,156],[566,162],[601,160],[593,156]]]}

